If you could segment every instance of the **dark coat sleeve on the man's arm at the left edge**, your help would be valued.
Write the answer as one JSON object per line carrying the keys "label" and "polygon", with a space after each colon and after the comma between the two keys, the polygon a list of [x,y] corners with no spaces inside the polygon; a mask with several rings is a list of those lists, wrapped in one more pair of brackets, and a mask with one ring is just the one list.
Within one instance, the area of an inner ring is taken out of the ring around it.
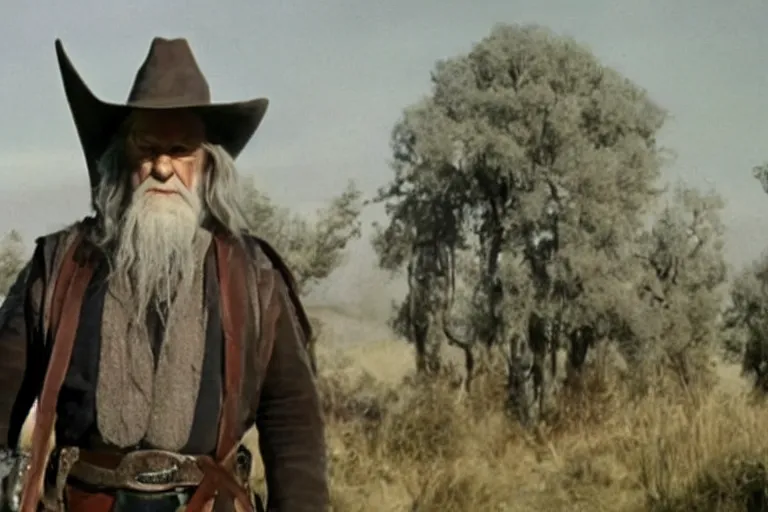
{"label": "dark coat sleeve on the man's arm at the left edge", "polygon": [[16,446],[45,375],[42,258],[38,245],[0,306],[0,448]]}

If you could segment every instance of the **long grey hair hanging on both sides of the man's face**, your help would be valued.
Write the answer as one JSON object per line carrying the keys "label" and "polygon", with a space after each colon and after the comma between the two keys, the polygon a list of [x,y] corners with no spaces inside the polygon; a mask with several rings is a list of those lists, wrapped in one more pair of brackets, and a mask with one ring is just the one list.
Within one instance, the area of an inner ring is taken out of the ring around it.
{"label": "long grey hair hanging on both sides of the man's face", "polygon": [[[242,187],[235,163],[219,145],[204,143],[207,169],[202,183],[203,215],[228,234],[240,239],[249,223],[243,209]],[[116,139],[99,161],[101,181],[93,191],[93,208],[99,224],[94,242],[106,249],[120,236],[123,213],[131,202],[130,173],[125,166],[124,142]]]}

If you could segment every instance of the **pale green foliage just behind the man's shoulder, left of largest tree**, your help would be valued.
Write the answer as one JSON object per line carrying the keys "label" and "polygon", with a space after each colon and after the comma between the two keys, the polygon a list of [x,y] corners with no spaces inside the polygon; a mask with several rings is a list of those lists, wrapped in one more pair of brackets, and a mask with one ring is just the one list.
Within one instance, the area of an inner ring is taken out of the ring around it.
{"label": "pale green foliage just behind the man's shoulder, left of largest tree", "polygon": [[314,221],[275,205],[251,181],[242,193],[253,233],[286,259],[304,293],[343,263],[347,244],[360,236],[361,193],[351,183]]}

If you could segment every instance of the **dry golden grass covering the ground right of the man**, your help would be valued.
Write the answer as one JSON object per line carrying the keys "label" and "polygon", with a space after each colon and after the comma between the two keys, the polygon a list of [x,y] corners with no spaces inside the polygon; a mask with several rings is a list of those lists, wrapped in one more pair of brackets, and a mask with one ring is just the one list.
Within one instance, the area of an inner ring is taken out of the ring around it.
{"label": "dry golden grass covering the ground right of the man", "polygon": [[593,372],[532,433],[496,379],[462,397],[409,382],[405,344],[345,355],[323,354],[320,381],[334,511],[763,510],[768,406],[733,390],[631,400]]}

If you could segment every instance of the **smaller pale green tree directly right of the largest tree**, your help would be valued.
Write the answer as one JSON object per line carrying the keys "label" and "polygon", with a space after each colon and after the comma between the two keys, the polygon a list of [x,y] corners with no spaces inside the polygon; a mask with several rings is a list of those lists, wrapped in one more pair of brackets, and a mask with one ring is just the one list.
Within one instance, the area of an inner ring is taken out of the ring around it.
{"label": "smaller pale green tree directly right of the largest tree", "polygon": [[678,187],[639,240],[643,263],[638,343],[646,367],[672,369],[686,384],[706,376],[720,334],[726,265],[722,198]]}

